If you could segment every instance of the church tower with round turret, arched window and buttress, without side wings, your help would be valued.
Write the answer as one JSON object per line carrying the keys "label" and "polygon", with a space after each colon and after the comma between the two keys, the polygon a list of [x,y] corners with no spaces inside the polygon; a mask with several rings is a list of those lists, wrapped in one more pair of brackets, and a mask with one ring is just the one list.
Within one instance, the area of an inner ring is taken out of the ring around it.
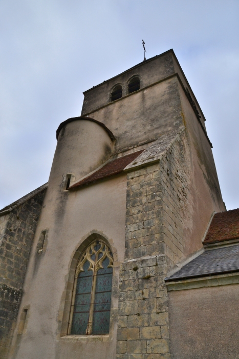
{"label": "church tower with round turret, arched window and buttress, without side wings", "polygon": [[169,50],[84,92],[57,130],[9,358],[169,359],[165,278],[225,211]]}

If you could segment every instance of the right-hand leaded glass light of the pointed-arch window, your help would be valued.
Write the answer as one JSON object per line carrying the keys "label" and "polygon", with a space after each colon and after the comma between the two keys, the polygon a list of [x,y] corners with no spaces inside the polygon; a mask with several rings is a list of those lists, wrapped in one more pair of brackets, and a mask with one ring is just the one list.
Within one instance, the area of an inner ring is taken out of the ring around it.
{"label": "right-hand leaded glass light of the pointed-arch window", "polygon": [[97,272],[93,334],[107,334],[110,331],[111,289],[113,268],[108,268],[110,260],[106,257],[103,268]]}

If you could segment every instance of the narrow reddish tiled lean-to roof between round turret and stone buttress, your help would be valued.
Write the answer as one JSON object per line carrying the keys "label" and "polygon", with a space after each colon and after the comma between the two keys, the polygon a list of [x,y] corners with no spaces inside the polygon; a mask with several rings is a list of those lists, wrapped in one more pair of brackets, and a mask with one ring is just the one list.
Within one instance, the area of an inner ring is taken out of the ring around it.
{"label": "narrow reddish tiled lean-to roof between round turret and stone buttress", "polygon": [[106,163],[105,166],[101,167],[98,171],[94,172],[88,177],[85,177],[81,181],[75,183],[73,186],[69,187],[69,189],[73,189],[76,187],[80,187],[83,185],[88,185],[89,183],[92,183],[94,181],[97,181],[97,179],[102,179],[105,177],[110,177],[115,174],[118,174],[120,172],[123,172],[124,168],[134,161],[136,157],[138,157],[143,150],[137,151],[131,154],[127,154],[126,156],[119,157],[116,159],[113,159],[113,161]]}

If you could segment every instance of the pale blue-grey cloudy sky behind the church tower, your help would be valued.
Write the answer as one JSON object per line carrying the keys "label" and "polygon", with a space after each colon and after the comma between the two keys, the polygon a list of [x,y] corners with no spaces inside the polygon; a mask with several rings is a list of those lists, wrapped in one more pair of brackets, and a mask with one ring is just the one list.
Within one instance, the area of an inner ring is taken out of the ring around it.
{"label": "pale blue-grey cloudy sky behind the church tower", "polygon": [[207,119],[227,209],[239,207],[238,0],[1,0],[0,207],[48,181],[56,129],[83,95],[173,49]]}

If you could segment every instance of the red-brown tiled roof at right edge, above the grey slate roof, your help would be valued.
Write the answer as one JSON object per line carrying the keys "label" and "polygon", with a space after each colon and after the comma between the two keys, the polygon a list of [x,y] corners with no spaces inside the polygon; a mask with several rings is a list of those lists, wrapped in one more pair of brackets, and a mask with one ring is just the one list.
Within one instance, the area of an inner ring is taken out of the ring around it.
{"label": "red-brown tiled roof at right edge, above the grey slate roof", "polygon": [[239,208],[215,213],[204,244],[235,240],[239,238]]}

